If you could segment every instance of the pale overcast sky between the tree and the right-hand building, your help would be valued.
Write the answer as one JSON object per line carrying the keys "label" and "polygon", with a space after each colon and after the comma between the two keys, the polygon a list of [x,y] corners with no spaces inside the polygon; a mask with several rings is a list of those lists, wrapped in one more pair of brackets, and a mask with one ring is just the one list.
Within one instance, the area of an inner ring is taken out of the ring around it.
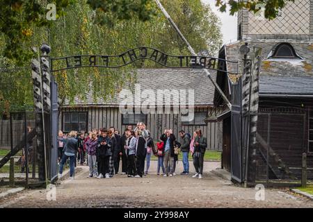
{"label": "pale overcast sky between the tree and the right-hand building", "polygon": [[216,13],[222,22],[221,31],[223,33],[223,44],[230,41],[235,42],[237,40],[237,17],[236,15],[230,15],[230,12],[220,12],[215,6],[215,0],[201,0],[204,3],[209,3],[211,9]]}

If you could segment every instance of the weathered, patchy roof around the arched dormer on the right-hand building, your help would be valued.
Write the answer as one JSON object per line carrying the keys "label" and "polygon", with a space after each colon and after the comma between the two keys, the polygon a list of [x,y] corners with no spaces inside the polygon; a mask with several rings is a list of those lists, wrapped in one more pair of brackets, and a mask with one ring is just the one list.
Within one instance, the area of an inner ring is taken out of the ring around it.
{"label": "weathered, patchy roof around the arched dormer on the right-hand building", "polygon": [[[300,59],[271,59],[268,55],[282,40],[246,40],[225,45],[227,60],[242,60],[240,46],[249,42],[262,48],[260,94],[313,95],[313,48],[309,41],[289,40]],[[250,50],[252,51],[252,50]],[[239,63],[240,65],[241,63]],[[227,69],[232,69],[227,63]],[[242,70],[242,67],[239,67]]]}

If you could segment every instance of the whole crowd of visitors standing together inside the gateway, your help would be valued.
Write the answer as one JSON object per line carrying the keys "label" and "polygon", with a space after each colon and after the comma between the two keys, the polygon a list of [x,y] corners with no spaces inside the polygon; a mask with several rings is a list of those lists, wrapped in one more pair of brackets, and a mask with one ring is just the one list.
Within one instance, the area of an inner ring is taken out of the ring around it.
{"label": "whole crowd of visitors standing together inside the gateway", "polygon": [[[193,156],[195,175],[193,178],[202,178],[204,153],[207,148],[207,139],[202,136],[200,129],[195,130],[193,137],[184,130],[179,131],[181,142],[166,129],[154,146],[154,140],[144,123],[137,123],[133,130],[127,126],[120,135],[114,127],[93,130],[85,135],[75,131],[67,136],[60,131],[58,135],[59,176],[62,176],[63,166],[70,159],[70,178],[74,178],[74,167],[77,162],[88,164],[88,177],[112,178],[120,170],[129,178],[142,178],[147,176],[152,155],[158,158],[157,175],[160,170],[164,177],[175,176],[176,164],[179,153],[182,153],[184,171],[181,175],[189,174],[189,153]],[[87,154],[87,158],[86,158]]]}

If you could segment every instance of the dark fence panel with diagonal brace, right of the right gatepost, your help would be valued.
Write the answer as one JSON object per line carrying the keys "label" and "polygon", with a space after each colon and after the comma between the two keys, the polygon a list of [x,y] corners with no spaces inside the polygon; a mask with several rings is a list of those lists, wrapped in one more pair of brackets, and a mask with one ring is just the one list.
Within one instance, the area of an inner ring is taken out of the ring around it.
{"label": "dark fence panel with diagonal brace, right of the right gatepost", "polygon": [[251,153],[255,165],[249,180],[266,183],[300,181],[305,148],[305,112],[300,109],[264,111],[259,113],[257,151]]}

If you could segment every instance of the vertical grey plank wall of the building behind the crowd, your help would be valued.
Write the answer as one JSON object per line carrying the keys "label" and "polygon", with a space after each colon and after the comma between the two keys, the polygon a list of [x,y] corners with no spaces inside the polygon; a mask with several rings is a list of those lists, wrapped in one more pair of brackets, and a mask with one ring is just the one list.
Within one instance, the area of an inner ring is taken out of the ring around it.
{"label": "vertical grey plank wall of the building behind the crowd", "polygon": [[[196,108],[195,111],[211,112],[211,108]],[[88,112],[88,130],[114,126],[123,132],[126,128],[125,125],[122,125],[122,115],[120,114],[118,108],[63,108],[63,112]],[[59,128],[60,130],[63,130],[61,117],[62,114],[59,119]],[[146,125],[154,140],[158,140],[161,133],[163,133],[166,128],[172,128],[176,137],[178,137],[178,132],[181,129],[192,135],[195,129],[200,128],[204,137],[207,137],[207,149],[212,151],[222,151],[222,122],[207,123],[205,126],[182,126],[180,114],[148,114]],[[180,141],[180,138],[178,138],[178,141]]]}

